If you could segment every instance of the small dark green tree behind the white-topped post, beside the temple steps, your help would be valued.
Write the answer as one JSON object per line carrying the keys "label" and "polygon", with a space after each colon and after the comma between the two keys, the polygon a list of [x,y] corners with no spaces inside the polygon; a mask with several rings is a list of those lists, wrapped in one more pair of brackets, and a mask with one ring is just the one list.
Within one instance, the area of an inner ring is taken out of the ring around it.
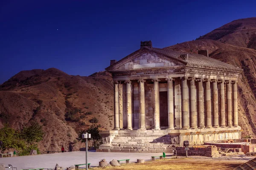
{"label": "small dark green tree behind the white-topped post, beside the temple steps", "polygon": [[77,138],[79,142],[85,143],[85,139],[82,138],[82,134],[86,132],[91,134],[91,138],[88,139],[88,146],[92,146],[95,149],[99,148],[99,145],[102,144],[102,136],[100,134],[102,130],[99,130],[99,126],[93,124],[90,125],[88,129],[79,131]]}

